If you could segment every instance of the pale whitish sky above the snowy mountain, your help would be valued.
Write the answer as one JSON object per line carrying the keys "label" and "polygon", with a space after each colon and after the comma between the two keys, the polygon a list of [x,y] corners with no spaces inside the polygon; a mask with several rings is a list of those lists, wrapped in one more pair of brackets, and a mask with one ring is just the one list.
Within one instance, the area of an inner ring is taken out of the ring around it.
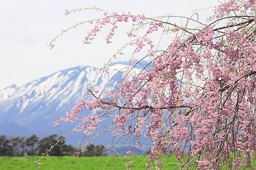
{"label": "pale whitish sky above the snowy mountain", "polygon": [[[148,17],[165,14],[189,17],[195,10],[216,5],[217,0],[0,0],[0,90],[80,65],[100,68],[120,47],[117,45],[122,44],[117,35],[114,45],[106,45],[103,32],[92,44],[84,45],[82,40],[90,26],[84,25],[60,37],[55,48],[48,48],[48,42],[61,30],[101,16],[90,11],[65,16],[66,9],[97,6],[109,12],[130,11]],[[196,12],[206,23],[212,10]]]}

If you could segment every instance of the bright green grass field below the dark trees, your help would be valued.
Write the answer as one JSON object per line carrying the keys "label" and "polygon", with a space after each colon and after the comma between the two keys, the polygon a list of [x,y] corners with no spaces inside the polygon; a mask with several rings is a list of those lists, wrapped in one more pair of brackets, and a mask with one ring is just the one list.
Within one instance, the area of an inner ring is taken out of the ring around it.
{"label": "bright green grass field below the dark trees", "polygon": [[[28,157],[0,157],[0,169],[126,169],[124,156],[121,156],[122,162],[119,156],[113,156],[113,159],[109,156],[97,157],[80,157],[74,156],[49,156],[40,161],[41,167],[36,167],[35,160],[40,159],[40,156],[28,156]],[[137,159],[138,156],[130,156],[131,160]],[[109,162],[108,162],[109,160]],[[140,156],[134,163],[130,164],[131,169],[146,169],[147,157]],[[108,162],[108,164],[106,164]],[[166,159],[164,163],[171,163],[166,165],[163,169],[174,169],[177,167],[175,164],[174,156]]]}

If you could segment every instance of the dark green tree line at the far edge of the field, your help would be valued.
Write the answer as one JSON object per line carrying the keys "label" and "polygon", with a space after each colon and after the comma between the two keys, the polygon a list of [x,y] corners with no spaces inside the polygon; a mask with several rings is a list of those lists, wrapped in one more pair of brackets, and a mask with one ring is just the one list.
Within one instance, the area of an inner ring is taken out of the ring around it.
{"label": "dark green tree line at the far edge of the field", "polygon": [[[39,140],[37,135],[31,137],[15,137],[7,138],[5,135],[0,135],[0,156],[41,156],[43,152],[51,148],[52,143],[60,140],[56,134],[48,135]],[[89,145],[85,152],[80,156],[100,156],[103,149],[100,146]],[[75,148],[72,145],[65,144],[63,139],[59,145],[48,153],[50,156],[73,156]]]}

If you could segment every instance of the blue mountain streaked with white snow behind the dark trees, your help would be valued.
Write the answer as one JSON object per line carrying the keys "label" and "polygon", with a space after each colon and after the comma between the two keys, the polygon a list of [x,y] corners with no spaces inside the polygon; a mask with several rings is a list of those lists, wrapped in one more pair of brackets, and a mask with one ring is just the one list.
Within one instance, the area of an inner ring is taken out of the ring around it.
{"label": "blue mountain streaked with white snow behind the dark trees", "polygon": [[[101,91],[108,91],[116,86],[122,78],[122,73],[115,73],[123,67],[125,65],[119,63],[110,66],[109,73],[102,73],[94,67],[79,66],[59,71],[23,86],[14,84],[1,90],[0,135],[37,134],[44,137],[53,133],[67,133],[68,130],[75,128],[73,124],[63,122],[53,127],[52,122],[65,117],[66,112],[71,111],[76,101],[84,96],[90,86],[95,85],[94,88]],[[112,79],[109,82],[110,78]],[[87,111],[86,114],[92,113]]]}

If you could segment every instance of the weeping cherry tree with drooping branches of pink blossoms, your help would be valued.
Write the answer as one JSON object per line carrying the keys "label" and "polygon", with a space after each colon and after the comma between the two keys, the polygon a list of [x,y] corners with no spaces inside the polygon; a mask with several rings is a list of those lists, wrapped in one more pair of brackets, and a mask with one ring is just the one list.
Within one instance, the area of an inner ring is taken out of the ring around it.
{"label": "weeping cherry tree with drooping branches of pink blossoms", "polygon": [[[117,141],[134,138],[137,147],[143,145],[139,139],[151,139],[148,169],[162,169],[163,159],[171,154],[176,155],[180,169],[255,166],[255,4],[255,0],[220,3],[206,24],[179,16],[187,20],[186,25],[170,22],[178,17],[170,15],[147,18],[130,13],[110,14],[96,7],[66,11],[66,15],[82,10],[103,13],[102,18],[71,27],[93,25],[84,44],[90,44],[107,25],[112,28],[105,40],[111,43],[118,24],[131,23],[127,32],[131,41],[118,49],[103,72],[108,72],[114,58],[125,53],[126,46],[134,51],[117,87],[105,92],[89,88],[86,96],[90,100],[78,101],[54,125],[81,121],[82,125],[73,131],[90,135],[101,121],[108,121],[104,116],[113,114],[113,125],[101,132],[110,131]],[[152,38],[154,35],[160,35],[160,40]],[[51,48],[56,39],[49,44]],[[159,48],[160,43],[166,47]],[[147,55],[135,61],[144,49]],[[144,61],[148,61],[147,65]],[[144,69],[131,74],[142,62]],[[86,117],[84,109],[101,112]],[[80,150],[85,147],[80,146]],[[127,169],[133,162],[129,154],[127,151]],[[156,165],[153,167],[152,163]]]}

